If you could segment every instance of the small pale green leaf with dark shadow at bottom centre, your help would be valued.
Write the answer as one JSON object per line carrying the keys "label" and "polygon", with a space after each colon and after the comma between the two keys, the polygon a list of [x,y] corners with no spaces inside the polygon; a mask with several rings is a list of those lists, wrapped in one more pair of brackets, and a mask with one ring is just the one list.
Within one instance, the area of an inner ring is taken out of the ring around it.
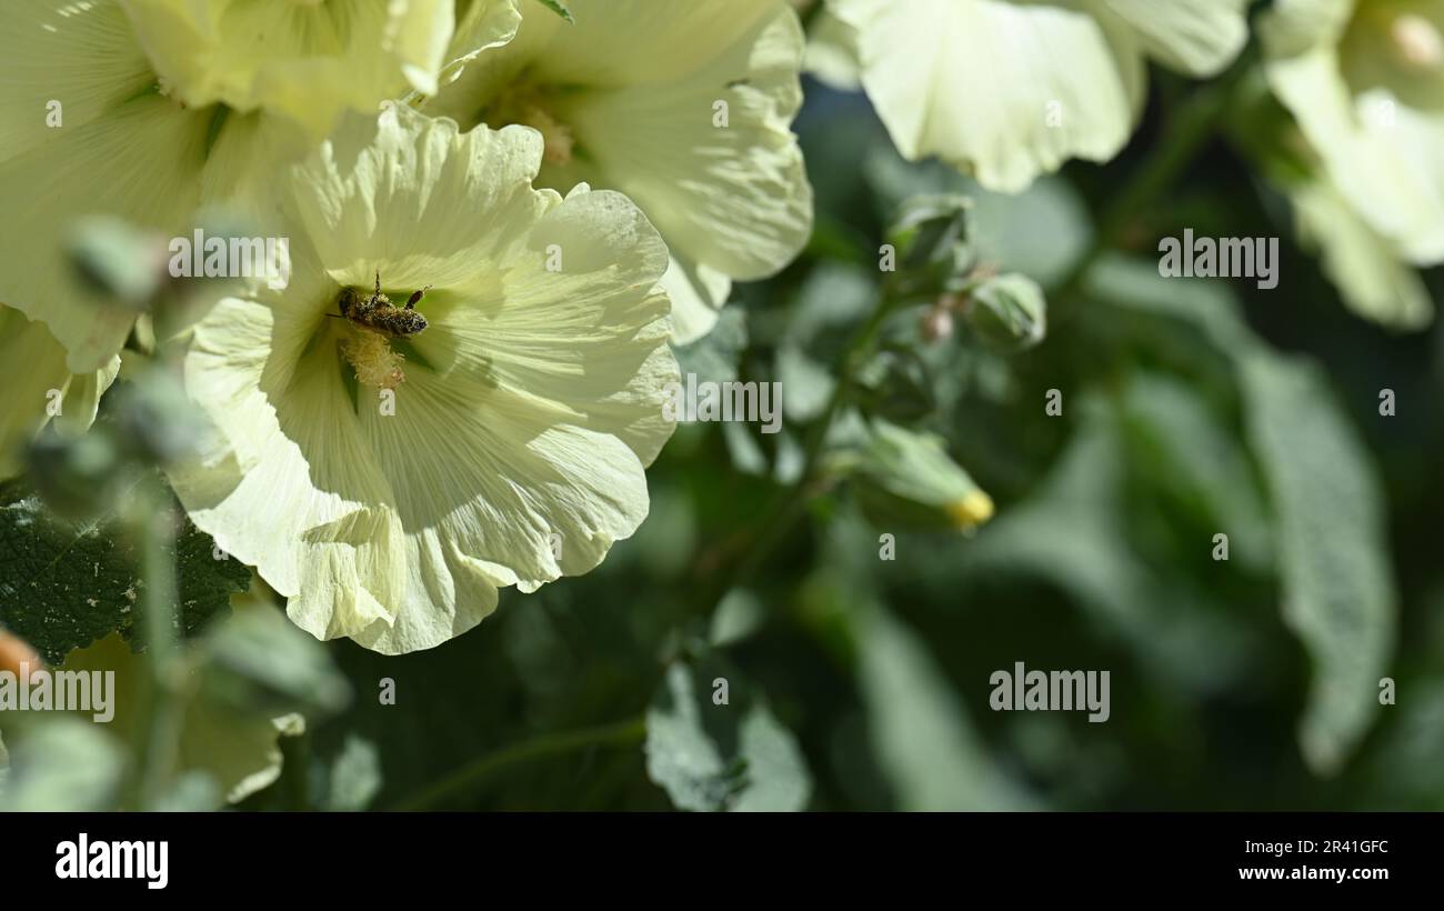
{"label": "small pale green leaf with dark shadow at bottom centre", "polygon": [[[726,705],[715,702],[719,680]],[[645,751],[647,774],[682,810],[796,811],[812,793],[797,739],[716,660],[667,668]]]}

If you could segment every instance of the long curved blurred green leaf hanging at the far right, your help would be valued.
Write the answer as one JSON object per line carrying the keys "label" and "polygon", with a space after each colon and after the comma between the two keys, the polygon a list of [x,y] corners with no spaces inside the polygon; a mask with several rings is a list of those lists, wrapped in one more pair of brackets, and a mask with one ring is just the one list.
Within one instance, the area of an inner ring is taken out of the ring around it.
{"label": "long curved blurred green leaf hanging at the far right", "polygon": [[1194,345],[1232,365],[1269,488],[1284,621],[1314,660],[1300,745],[1314,771],[1337,771],[1373,722],[1396,627],[1383,492],[1367,450],[1323,371],[1258,338],[1225,284],[1112,260],[1089,287],[1131,310],[1129,322],[1147,313],[1191,328]]}

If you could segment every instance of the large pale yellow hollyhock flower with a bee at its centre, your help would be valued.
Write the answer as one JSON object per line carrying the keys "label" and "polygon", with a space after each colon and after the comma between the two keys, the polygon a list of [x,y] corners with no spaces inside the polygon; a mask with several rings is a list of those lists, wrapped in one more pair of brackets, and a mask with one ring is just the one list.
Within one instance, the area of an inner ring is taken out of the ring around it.
{"label": "large pale yellow hollyhock flower with a bee at its centre", "polygon": [[[595,567],[647,514],[679,378],[667,251],[625,196],[534,191],[533,130],[351,118],[283,188],[293,279],[196,326],[224,439],[175,472],[192,520],[318,638],[429,648]],[[335,318],[429,286],[406,342]]]}

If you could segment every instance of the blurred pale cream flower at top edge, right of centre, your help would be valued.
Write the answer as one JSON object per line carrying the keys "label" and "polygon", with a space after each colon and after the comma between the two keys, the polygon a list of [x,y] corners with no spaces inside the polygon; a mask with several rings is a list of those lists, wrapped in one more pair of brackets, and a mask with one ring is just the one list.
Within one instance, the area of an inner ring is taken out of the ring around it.
{"label": "blurred pale cream flower at top edge, right of centre", "polygon": [[898,150],[1019,192],[1070,157],[1112,159],[1145,61],[1222,71],[1246,0],[830,0],[856,30],[862,84]]}

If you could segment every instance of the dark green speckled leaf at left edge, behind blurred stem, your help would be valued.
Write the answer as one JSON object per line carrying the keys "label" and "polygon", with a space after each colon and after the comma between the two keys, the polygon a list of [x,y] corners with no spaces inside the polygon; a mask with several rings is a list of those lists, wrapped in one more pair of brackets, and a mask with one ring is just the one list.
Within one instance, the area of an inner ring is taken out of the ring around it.
{"label": "dark green speckled leaf at left edge, behind blurred stem", "polygon": [[[175,544],[180,627],[196,632],[250,585],[250,570],[186,523]],[[113,524],[72,523],[38,497],[0,507],[0,624],[59,664],[111,631],[127,638],[143,588],[139,560]]]}

